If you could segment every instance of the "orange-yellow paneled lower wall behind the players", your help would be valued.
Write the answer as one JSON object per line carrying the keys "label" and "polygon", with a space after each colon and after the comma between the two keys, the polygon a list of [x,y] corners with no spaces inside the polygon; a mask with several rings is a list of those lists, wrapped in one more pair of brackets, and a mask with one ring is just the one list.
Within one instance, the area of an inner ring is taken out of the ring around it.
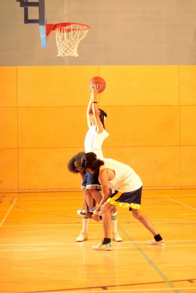
{"label": "orange-yellow paneled lower wall behind the players", "polygon": [[12,66],[0,67],[0,191],[80,188],[66,164],[84,150],[96,75],[104,155],[144,188],[196,188],[196,66]]}

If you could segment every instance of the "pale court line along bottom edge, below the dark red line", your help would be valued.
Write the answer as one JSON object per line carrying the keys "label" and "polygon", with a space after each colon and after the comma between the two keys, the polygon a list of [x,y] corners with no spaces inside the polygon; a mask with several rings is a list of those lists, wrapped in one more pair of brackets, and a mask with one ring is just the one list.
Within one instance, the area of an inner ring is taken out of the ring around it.
{"label": "pale court line along bottom edge, below the dark red line", "polygon": [[[101,286],[100,286],[101,287]],[[106,287],[103,287],[103,288],[107,288],[107,286]],[[196,289],[196,287],[187,287],[187,288],[184,288],[184,287],[179,287],[179,288],[175,288],[175,292],[179,292],[178,290],[195,290]],[[69,289],[68,289],[69,290]],[[31,292],[25,292],[25,293],[59,293],[59,292],[61,292],[61,293],[67,293],[68,292],[68,290],[66,291],[66,290],[50,290],[50,291],[31,291]],[[71,290],[71,289],[70,289]],[[107,290],[107,289],[106,289]],[[120,290],[112,290],[112,289],[109,289],[109,292],[143,292],[143,291],[172,291],[172,290],[174,290],[174,289],[172,289],[172,288],[151,288],[151,289],[149,289],[149,288],[146,288],[146,289],[120,289]],[[104,289],[102,289],[102,290],[96,290],[96,291],[94,291],[93,290],[93,293],[103,293],[105,290]],[[71,292],[72,293],[90,293],[90,292],[92,292],[92,291],[72,291],[71,290]]]}

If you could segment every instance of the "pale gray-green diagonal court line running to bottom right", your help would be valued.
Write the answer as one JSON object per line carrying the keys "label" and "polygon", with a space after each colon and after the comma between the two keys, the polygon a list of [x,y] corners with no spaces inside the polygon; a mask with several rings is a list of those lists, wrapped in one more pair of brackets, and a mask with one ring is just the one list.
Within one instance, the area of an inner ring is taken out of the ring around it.
{"label": "pale gray-green diagonal court line running to bottom right", "polygon": [[[166,277],[166,275],[164,275],[163,272],[161,272],[161,270],[153,263],[153,261],[146,255],[146,253],[144,251],[141,250],[141,248],[137,245],[137,243],[135,243],[133,241],[133,239],[130,237],[130,235],[127,234],[127,232],[120,226],[118,225],[118,227],[120,228],[120,230],[127,236],[128,239],[130,239],[132,241],[132,244],[134,245],[134,247],[140,252],[140,254],[142,254],[142,256],[144,256],[144,258],[148,261],[148,263],[152,266],[152,268],[162,277],[162,279],[168,284],[168,286],[170,288],[173,289],[173,291],[175,293],[179,293],[179,291],[177,289],[175,289],[174,284],[172,284],[170,282],[170,280]],[[141,290],[140,290],[141,291]]]}

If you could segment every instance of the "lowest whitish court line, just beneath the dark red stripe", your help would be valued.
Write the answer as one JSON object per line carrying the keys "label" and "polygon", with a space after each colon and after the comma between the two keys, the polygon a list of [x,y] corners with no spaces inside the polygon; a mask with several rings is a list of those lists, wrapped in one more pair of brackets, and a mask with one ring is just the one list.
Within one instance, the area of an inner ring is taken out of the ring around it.
{"label": "lowest whitish court line, just beneath the dark red stripe", "polygon": [[[135,285],[135,286],[138,286],[138,285]],[[101,286],[100,286],[101,287]],[[104,286],[103,286],[104,287]],[[116,286],[118,287],[118,285]],[[106,286],[107,288],[107,286]],[[109,287],[109,292],[143,292],[143,291],[176,291],[176,290],[195,290],[196,287],[187,287],[187,288],[149,288],[149,289],[118,289],[118,290],[112,290],[110,287]],[[77,289],[79,290],[79,289]],[[92,291],[93,290],[93,291]],[[42,293],[43,291],[36,291],[36,293]],[[104,290],[96,290],[96,288],[92,288],[91,290],[89,289],[86,289],[86,291],[73,291],[73,290],[66,290],[66,291],[60,291],[61,293],[67,293],[67,292],[70,292],[70,293],[103,293]],[[33,292],[32,292],[33,293]],[[51,291],[44,291],[44,293],[51,293]],[[52,293],[59,293],[59,291],[55,291],[53,290]]]}

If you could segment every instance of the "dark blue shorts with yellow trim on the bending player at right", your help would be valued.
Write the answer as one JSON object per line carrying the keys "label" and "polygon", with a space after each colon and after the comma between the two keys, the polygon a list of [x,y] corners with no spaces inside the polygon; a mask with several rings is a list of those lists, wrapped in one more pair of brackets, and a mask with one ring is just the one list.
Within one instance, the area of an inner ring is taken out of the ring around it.
{"label": "dark blue shorts with yellow trim on the bending player at right", "polygon": [[140,209],[142,198],[142,187],[130,192],[121,192],[115,190],[109,197],[107,202],[113,206],[118,206],[124,209]]}

